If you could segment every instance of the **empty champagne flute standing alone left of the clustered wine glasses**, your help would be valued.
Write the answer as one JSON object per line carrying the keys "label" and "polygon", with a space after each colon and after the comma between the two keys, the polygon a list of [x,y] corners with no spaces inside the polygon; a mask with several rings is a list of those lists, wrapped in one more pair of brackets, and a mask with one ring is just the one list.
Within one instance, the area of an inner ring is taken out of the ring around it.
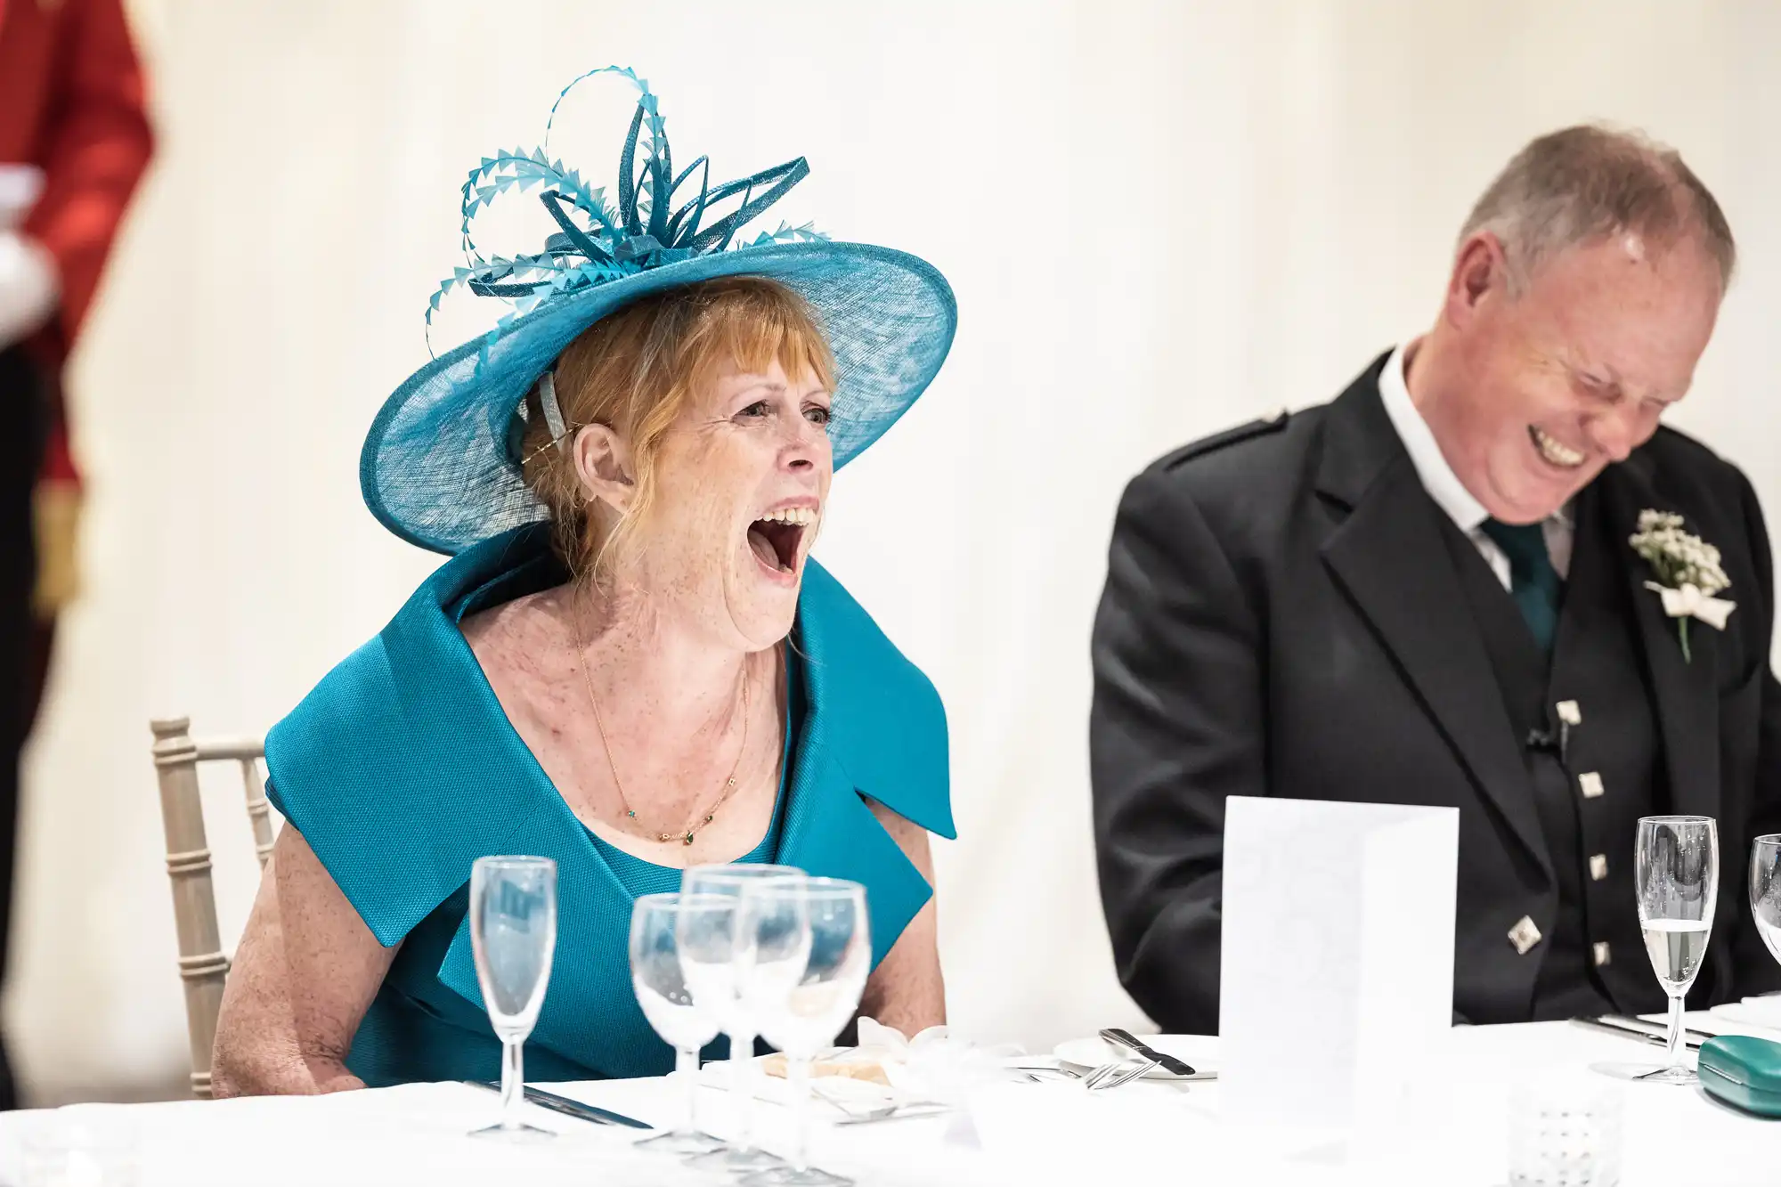
{"label": "empty champagne flute standing alone left of the clustered wine glasses", "polygon": [[538,1023],[556,954],[556,863],[477,857],[470,866],[470,946],[488,1021],[500,1036],[500,1121],[470,1137],[540,1142],[550,1130],[520,1119],[525,1036]]}

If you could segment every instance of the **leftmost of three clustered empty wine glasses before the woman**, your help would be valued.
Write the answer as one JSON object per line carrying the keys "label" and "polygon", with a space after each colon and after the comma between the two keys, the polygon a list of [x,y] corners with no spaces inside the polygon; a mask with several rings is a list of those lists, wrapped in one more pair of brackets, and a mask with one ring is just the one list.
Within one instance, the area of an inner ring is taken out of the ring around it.
{"label": "leftmost of three clustered empty wine glasses before the woman", "polygon": [[728,895],[645,895],[630,911],[630,986],[643,1016],[675,1050],[675,1076],[686,1084],[686,1114],[666,1134],[638,1146],[666,1153],[709,1153],[723,1146],[698,1128],[698,1052],[718,1037],[718,1018],[693,1000],[680,971],[680,945],[734,941],[736,898]]}

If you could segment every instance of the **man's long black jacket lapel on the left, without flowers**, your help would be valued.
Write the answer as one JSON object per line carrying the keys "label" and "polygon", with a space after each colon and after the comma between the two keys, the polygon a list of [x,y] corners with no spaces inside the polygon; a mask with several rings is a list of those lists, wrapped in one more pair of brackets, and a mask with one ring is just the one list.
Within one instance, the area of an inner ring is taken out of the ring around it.
{"label": "man's long black jacket lapel on the left, without flowers", "polygon": [[1423,490],[1378,396],[1378,364],[1329,412],[1318,490],[1348,515],[1323,563],[1403,670],[1471,781],[1551,875],[1503,695]]}

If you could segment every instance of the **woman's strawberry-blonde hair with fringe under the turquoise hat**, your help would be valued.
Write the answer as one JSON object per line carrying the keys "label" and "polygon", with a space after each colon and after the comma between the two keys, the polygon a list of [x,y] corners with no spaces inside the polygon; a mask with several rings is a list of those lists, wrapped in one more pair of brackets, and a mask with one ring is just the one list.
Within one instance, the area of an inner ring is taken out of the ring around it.
{"label": "woman's strawberry-blonde hair with fringe under the turquoise hat", "polygon": [[727,365],[759,372],[775,360],[793,383],[814,376],[825,389],[835,387],[835,356],[814,310],[789,287],[760,276],[647,296],[568,344],[554,376],[565,440],[582,426],[607,426],[630,444],[636,485],[616,520],[590,513],[573,456],[552,442],[538,392],[525,397],[525,485],[550,510],[556,551],[570,572],[598,577],[620,549],[636,544],[655,501],[661,440],[687,401]]}

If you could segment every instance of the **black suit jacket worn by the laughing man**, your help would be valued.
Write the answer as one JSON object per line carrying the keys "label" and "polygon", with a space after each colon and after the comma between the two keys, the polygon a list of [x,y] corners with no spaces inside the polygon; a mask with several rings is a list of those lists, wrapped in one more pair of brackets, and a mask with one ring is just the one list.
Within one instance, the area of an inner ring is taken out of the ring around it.
{"label": "black suit jacket worn by the laughing man", "polygon": [[[1229,795],[1460,813],[1455,1012],[1523,1021],[1537,961],[1505,932],[1557,902],[1501,693],[1373,364],[1334,403],[1179,449],[1120,501],[1094,633],[1101,896],[1120,980],[1165,1030],[1218,1028]],[[1658,430],[1596,479],[1631,535],[1679,512],[1738,602],[1687,663],[1626,549],[1672,809],[1719,820],[1720,891],[1701,998],[1781,987],[1751,923],[1751,838],[1781,831],[1774,581],[1736,467]],[[1314,888],[1305,888],[1314,893]]]}

